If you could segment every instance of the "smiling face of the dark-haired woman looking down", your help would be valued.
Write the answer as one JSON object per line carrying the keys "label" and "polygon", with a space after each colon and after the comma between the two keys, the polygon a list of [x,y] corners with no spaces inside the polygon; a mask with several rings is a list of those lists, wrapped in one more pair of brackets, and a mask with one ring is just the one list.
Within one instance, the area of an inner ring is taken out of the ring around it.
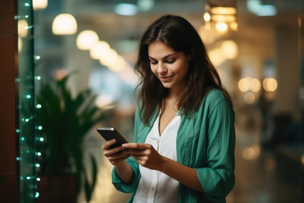
{"label": "smiling face of the dark-haired woman looking down", "polygon": [[190,55],[176,52],[161,42],[148,47],[150,67],[165,88],[184,90],[185,77],[189,69]]}

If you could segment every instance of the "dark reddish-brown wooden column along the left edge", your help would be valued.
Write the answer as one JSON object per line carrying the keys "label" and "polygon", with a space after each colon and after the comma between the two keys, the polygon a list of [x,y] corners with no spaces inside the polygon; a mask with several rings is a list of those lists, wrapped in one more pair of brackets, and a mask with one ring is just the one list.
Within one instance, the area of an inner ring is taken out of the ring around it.
{"label": "dark reddish-brown wooden column along the left edge", "polygon": [[17,0],[0,6],[0,202],[18,203],[19,166],[16,161],[19,139],[15,129],[18,102],[15,78],[18,74]]}

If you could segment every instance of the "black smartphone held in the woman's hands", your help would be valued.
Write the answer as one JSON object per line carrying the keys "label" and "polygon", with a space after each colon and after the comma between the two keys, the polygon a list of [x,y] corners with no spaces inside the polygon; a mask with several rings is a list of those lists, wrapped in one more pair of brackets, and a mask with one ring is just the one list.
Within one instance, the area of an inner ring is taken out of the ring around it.
{"label": "black smartphone held in the woman's hands", "polygon": [[115,148],[121,146],[123,143],[128,143],[128,141],[115,129],[115,128],[97,128],[97,131],[106,140],[116,139],[117,142],[113,144],[110,148]]}

